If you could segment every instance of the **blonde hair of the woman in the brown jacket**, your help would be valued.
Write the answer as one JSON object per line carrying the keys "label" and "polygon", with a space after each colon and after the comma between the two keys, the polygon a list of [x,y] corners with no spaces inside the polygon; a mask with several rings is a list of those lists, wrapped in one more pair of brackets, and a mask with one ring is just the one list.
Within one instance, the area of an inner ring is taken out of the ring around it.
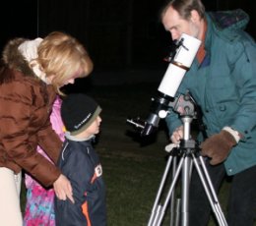
{"label": "blonde hair of the woman in the brown jacket", "polygon": [[87,77],[94,64],[84,46],[73,36],[53,31],[43,38],[37,48],[37,63],[46,77],[53,76],[51,85],[59,94],[60,86],[74,76]]}

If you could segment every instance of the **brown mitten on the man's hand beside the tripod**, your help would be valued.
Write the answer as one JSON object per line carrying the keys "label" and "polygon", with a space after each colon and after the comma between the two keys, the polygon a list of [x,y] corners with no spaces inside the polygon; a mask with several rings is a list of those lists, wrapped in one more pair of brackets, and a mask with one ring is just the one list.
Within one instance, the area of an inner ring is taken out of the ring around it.
{"label": "brown mitten on the man's hand beside the tripod", "polygon": [[200,145],[202,155],[212,158],[211,165],[222,163],[228,156],[231,148],[236,145],[233,136],[227,131],[221,131],[220,134],[213,135]]}

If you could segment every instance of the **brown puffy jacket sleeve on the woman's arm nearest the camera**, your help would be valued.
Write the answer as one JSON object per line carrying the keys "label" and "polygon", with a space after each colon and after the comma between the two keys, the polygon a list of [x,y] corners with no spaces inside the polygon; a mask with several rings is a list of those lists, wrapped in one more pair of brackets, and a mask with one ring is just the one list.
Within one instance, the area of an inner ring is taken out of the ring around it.
{"label": "brown puffy jacket sleeve on the woman's arm nearest the camera", "polygon": [[45,187],[52,185],[59,177],[60,170],[35,151],[36,136],[34,141],[29,138],[32,86],[19,81],[2,85],[0,103],[1,148],[6,152],[8,161],[14,161],[30,172]]}

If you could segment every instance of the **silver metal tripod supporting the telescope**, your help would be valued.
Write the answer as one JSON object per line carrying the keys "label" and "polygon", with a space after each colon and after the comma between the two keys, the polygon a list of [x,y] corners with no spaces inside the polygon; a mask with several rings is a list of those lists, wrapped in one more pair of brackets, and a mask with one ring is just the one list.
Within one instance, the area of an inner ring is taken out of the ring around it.
{"label": "silver metal tripod supporting the telescope", "polygon": [[[166,150],[170,151],[162,178],[160,182],[160,188],[157,193],[157,197],[154,202],[154,206],[152,209],[152,214],[150,220],[148,222],[148,226],[160,226],[165,210],[167,205],[170,203],[170,209],[173,212],[173,204],[174,204],[174,188],[176,182],[178,180],[179,174],[182,170],[182,177],[181,177],[181,203],[180,206],[178,205],[178,214],[176,216],[176,224],[175,225],[182,225],[188,226],[189,225],[189,209],[188,209],[188,202],[189,202],[189,183],[191,177],[192,167],[195,166],[197,173],[201,179],[202,185],[206,192],[207,198],[210,201],[212,210],[216,216],[216,219],[221,226],[227,226],[227,223],[224,218],[224,213],[219,203],[218,197],[216,195],[215,189],[211,182],[211,178],[207,171],[205,162],[203,157],[199,153],[199,148],[196,145],[194,140],[191,140],[190,136],[190,126],[193,120],[193,117],[189,114],[185,114],[181,116],[181,120],[183,123],[183,135],[184,139],[180,141],[179,146],[172,148],[173,146],[166,146]],[[179,163],[176,167],[176,157],[180,155]],[[160,204],[160,198],[162,195],[163,187],[170,169],[171,162],[173,160],[172,165],[172,182],[170,184],[169,190],[167,191],[166,198],[163,201],[163,204]],[[180,210],[179,210],[180,209]],[[181,213],[181,222],[179,222],[179,213]],[[171,215],[171,225],[173,224],[173,214]]]}

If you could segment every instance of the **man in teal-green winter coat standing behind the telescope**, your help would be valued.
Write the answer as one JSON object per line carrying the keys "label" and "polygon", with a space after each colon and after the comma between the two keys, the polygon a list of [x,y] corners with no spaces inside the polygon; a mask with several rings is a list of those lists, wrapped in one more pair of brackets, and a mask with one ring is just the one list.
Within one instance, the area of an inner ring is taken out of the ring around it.
{"label": "man in teal-green winter coat standing behind the telescope", "polygon": [[[161,11],[172,39],[182,33],[202,41],[177,93],[189,90],[203,111],[208,139],[201,142],[211,180],[218,191],[224,176],[232,183],[227,205],[229,226],[253,225],[256,206],[256,46],[243,28],[241,10],[205,13],[200,0],[172,0]],[[166,117],[170,139],[183,138],[178,115]],[[194,170],[190,183],[189,225],[207,225],[211,206]]]}

